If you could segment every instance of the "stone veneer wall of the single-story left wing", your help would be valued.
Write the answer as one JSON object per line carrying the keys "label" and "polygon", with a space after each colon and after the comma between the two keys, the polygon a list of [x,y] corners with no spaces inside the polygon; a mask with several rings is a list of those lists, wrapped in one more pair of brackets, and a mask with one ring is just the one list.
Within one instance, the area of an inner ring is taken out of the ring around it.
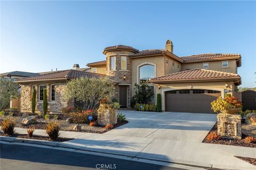
{"label": "stone veneer wall of the single-story left wing", "polygon": [[[55,85],[55,101],[50,101],[50,89],[51,84]],[[31,96],[32,86],[34,84],[22,84],[21,85],[21,112],[31,113]],[[66,82],[49,83],[47,86],[47,99],[48,99],[48,113],[57,114],[62,113],[61,108],[63,107],[74,107],[72,101],[66,101],[63,98],[63,94],[66,88]],[[39,84],[36,84],[36,113],[43,112],[43,101],[39,101]]]}

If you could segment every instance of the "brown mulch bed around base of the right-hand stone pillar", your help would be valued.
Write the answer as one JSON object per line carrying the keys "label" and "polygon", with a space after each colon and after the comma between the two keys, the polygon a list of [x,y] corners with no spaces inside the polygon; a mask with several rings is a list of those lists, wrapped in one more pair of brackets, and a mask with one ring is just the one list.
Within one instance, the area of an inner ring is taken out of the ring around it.
{"label": "brown mulch bed around base of the right-hand stone pillar", "polygon": [[[210,130],[210,132],[217,132],[217,123],[213,126],[213,128]],[[230,139],[207,140],[206,137],[205,137],[202,142],[212,143],[212,144],[220,144],[220,145],[233,145],[233,146],[239,146],[239,147],[256,148],[256,142],[247,143],[244,140],[245,137],[247,137],[247,135],[245,135],[243,133],[242,133],[242,139],[241,140],[235,140],[235,139],[233,139],[233,140],[230,140]]]}

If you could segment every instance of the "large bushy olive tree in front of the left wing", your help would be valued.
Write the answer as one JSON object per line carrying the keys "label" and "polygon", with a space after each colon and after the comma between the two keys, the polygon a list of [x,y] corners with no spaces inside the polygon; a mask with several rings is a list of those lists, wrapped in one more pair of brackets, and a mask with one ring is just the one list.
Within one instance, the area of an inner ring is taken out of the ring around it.
{"label": "large bushy olive tree in front of the left wing", "polygon": [[115,95],[115,84],[109,78],[79,78],[67,83],[64,97],[66,100],[80,101],[84,111],[94,109],[101,99]]}

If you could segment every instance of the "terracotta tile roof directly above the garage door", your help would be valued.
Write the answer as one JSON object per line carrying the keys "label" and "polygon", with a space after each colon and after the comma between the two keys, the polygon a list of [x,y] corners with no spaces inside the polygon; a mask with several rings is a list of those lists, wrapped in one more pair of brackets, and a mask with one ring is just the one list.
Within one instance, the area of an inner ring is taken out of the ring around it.
{"label": "terracotta tile roof directly above the garage door", "polygon": [[214,70],[192,69],[150,79],[150,82],[174,82],[191,80],[241,79],[238,74]]}

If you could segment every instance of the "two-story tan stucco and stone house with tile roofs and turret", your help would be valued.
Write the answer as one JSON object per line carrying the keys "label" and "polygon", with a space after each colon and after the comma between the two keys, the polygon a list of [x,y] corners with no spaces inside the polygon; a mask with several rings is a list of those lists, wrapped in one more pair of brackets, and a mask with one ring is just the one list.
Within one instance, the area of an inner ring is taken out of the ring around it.
{"label": "two-story tan stucco and stone house with tile roofs and turret", "polygon": [[[173,44],[166,41],[165,49],[138,50],[131,46],[116,45],[103,50],[106,60],[87,64],[91,73],[77,70],[54,72],[20,79],[21,110],[30,111],[33,88],[41,103],[42,89],[49,91],[49,111],[60,112],[61,107],[74,105],[63,101],[66,81],[79,76],[108,76],[118,82],[116,99],[123,107],[130,107],[134,84],[148,82],[154,92],[162,96],[162,110],[170,112],[212,113],[211,101],[225,94],[234,95],[241,77],[239,54],[199,54],[179,57],[173,53]],[[54,96],[54,98],[53,98]],[[54,100],[53,100],[54,99]],[[38,105],[38,111],[42,106]]]}

